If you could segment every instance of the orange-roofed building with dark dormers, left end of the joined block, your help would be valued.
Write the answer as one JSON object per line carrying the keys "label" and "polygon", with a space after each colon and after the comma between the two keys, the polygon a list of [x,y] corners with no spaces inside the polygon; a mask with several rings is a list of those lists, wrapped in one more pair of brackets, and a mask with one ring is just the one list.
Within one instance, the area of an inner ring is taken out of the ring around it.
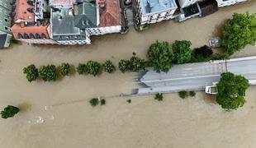
{"label": "orange-roofed building with dark dormers, left end of the joined block", "polygon": [[57,44],[51,38],[48,0],[17,0],[12,35],[26,44]]}

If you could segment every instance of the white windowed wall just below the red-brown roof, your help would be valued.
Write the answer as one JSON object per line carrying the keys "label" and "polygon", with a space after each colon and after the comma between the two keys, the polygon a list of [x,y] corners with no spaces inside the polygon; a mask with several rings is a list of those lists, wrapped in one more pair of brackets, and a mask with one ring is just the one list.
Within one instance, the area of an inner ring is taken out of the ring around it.
{"label": "white windowed wall just below the red-brown roof", "polygon": [[97,27],[97,28],[88,28],[88,33],[90,35],[106,35],[119,33],[121,31],[121,25],[107,26],[107,27]]}

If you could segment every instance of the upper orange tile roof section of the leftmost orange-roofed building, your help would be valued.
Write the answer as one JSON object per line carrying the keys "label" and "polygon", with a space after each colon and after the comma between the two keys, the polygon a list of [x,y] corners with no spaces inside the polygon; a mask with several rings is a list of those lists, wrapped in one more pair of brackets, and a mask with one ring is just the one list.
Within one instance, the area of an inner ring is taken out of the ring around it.
{"label": "upper orange tile roof section of the leftmost orange-roofed building", "polygon": [[17,0],[16,1],[16,16],[14,17],[14,21],[22,20],[22,21],[34,21],[35,14],[31,12],[27,12],[27,8],[33,8],[28,5],[27,0]]}

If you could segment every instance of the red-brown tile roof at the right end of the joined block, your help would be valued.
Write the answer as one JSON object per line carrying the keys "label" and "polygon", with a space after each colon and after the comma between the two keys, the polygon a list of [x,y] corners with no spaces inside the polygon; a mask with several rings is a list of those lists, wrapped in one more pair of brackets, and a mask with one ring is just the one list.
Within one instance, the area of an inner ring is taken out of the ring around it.
{"label": "red-brown tile roof at the right end of the joined block", "polygon": [[[102,1],[102,0],[100,0]],[[105,0],[105,7],[100,7],[100,27],[121,25],[120,0]]]}

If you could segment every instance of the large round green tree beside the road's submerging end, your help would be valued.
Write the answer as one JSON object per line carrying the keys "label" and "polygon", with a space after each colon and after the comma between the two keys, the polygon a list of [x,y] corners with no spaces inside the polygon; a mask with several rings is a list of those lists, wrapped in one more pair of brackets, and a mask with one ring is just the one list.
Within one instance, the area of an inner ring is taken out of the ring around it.
{"label": "large round green tree beside the road's submerging end", "polygon": [[149,62],[156,72],[168,72],[173,66],[173,49],[168,42],[151,44],[148,51]]}

